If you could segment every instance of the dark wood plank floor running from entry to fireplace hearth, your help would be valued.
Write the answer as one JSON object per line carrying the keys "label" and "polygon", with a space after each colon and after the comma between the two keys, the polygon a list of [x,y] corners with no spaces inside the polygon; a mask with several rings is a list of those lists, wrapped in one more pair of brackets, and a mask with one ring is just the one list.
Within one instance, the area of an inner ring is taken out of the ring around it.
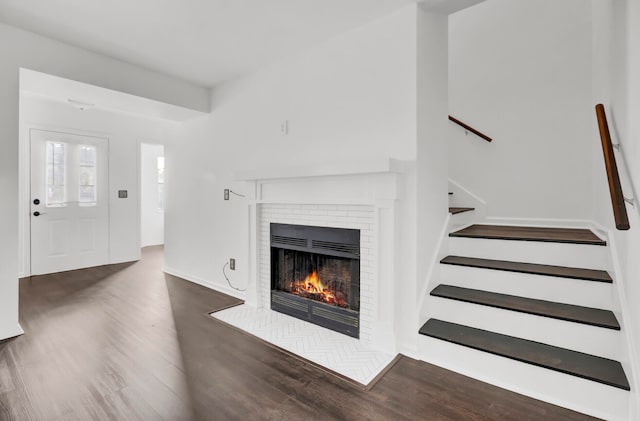
{"label": "dark wood plank floor running from entry to fireplace hearth", "polygon": [[237,300],[134,264],[24,279],[0,420],[582,420],[403,357],[363,391],[207,316]]}

